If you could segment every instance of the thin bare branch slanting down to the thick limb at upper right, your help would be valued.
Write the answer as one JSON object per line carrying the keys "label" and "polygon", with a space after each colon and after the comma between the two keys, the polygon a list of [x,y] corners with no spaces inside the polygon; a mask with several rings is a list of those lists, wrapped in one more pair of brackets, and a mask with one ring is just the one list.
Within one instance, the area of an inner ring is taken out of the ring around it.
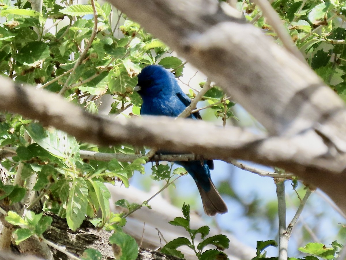
{"label": "thin bare branch slanting down to the thick limb at upper right", "polygon": [[282,41],[283,46],[291,52],[295,57],[306,62],[304,56],[301,54],[297,46],[295,46],[291,35],[287,32],[286,27],[282,24],[279,15],[273,9],[267,0],[254,0],[254,2],[261,8],[263,15],[267,18],[268,23],[273,27],[277,36]]}

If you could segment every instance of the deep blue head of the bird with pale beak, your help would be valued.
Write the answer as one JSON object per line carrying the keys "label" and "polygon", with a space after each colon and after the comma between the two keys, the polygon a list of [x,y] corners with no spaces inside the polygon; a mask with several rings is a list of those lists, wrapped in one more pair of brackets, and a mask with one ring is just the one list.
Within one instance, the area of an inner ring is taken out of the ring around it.
{"label": "deep blue head of the bird with pale beak", "polygon": [[138,74],[138,84],[135,90],[142,98],[157,97],[170,95],[176,85],[173,73],[161,65],[149,65]]}

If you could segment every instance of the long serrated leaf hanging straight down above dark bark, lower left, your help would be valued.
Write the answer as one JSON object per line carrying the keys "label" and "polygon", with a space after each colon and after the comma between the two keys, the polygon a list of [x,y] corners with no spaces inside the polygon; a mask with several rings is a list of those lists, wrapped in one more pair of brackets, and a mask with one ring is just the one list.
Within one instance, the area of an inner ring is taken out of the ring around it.
{"label": "long serrated leaf hanging straight down above dark bark, lower left", "polygon": [[75,231],[85,219],[86,207],[88,206],[88,186],[86,182],[77,178],[72,183],[69,200],[66,205],[67,225]]}

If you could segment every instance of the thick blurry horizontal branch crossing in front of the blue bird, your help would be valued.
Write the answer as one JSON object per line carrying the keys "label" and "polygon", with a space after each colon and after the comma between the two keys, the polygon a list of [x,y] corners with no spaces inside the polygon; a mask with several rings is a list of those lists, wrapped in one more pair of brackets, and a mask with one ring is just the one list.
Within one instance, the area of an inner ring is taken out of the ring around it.
{"label": "thick blurry horizontal branch crossing in front of the blue bird", "polygon": [[[203,158],[231,158],[275,165],[324,190],[346,211],[346,155],[311,129],[293,137],[254,135],[237,127],[165,117],[111,120],[86,113],[62,97],[1,79],[1,110],[38,119],[77,139],[99,145],[128,143],[197,153]],[[189,131],[198,129],[198,131]],[[222,141],[220,139],[222,137]],[[328,175],[334,174],[333,176]]]}

